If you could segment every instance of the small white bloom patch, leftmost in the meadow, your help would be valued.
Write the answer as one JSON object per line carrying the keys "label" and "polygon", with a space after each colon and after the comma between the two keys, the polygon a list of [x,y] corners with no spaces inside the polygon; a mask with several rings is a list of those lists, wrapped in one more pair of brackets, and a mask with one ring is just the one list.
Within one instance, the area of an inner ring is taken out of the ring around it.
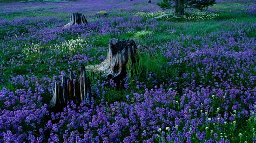
{"label": "small white bloom patch, leftmost in the meadow", "polygon": [[38,53],[42,53],[43,47],[40,45],[41,45],[41,43],[38,43],[38,44],[32,43],[32,45],[29,47],[26,47],[27,45],[25,45],[26,48],[24,48],[24,53],[25,53],[26,57],[27,58],[28,57],[35,58]]}

